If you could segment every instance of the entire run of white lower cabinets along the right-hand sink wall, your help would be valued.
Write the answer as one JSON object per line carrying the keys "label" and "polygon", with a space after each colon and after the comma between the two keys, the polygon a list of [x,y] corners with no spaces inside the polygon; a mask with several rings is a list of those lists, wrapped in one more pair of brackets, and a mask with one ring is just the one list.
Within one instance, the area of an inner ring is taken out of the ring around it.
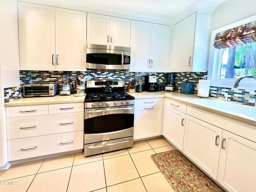
{"label": "entire run of white lower cabinets along the right-hand sink wall", "polygon": [[[183,105],[166,99],[166,139],[228,192],[256,191],[256,142],[250,137],[255,127],[189,105],[185,109]],[[182,113],[186,113],[184,138]]]}

